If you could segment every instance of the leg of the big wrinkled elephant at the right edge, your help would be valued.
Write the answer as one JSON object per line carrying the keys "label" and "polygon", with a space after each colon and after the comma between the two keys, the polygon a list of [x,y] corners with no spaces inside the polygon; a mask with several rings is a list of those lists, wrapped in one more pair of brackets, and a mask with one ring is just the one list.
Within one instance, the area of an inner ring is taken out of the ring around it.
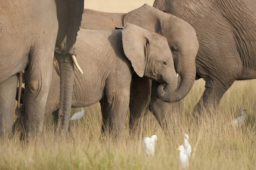
{"label": "leg of the big wrinkled elephant at the right edge", "polygon": [[194,108],[194,116],[202,116],[202,113],[211,113],[215,111],[221,101],[224,93],[230,88],[235,82],[235,79],[230,80],[229,83],[221,83],[218,80],[213,81],[212,79],[205,80],[205,90],[203,96]]}

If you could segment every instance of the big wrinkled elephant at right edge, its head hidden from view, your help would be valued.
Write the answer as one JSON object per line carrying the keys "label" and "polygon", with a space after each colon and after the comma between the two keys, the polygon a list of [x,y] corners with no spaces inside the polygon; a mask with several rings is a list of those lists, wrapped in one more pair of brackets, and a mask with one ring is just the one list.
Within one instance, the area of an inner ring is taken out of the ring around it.
{"label": "big wrinkled elephant at right edge, its head hidden from view", "polygon": [[235,80],[256,78],[256,2],[251,0],[155,0],[154,7],[195,28],[197,77],[206,82],[195,113],[215,108]]}

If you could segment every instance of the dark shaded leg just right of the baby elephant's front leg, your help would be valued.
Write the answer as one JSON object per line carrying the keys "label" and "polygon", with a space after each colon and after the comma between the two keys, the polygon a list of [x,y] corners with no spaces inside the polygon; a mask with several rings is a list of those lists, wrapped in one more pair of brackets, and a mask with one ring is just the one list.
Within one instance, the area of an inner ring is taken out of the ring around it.
{"label": "dark shaded leg just right of the baby elephant's front leg", "polygon": [[130,119],[129,127],[131,133],[139,133],[148,113],[149,100],[151,95],[151,80],[139,77],[134,74],[131,82],[130,95]]}

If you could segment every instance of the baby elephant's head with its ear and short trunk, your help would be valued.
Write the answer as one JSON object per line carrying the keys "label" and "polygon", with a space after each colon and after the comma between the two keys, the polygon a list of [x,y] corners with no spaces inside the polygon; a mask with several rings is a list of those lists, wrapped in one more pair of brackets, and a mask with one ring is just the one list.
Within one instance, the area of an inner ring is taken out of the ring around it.
{"label": "baby elephant's head with its ear and short trunk", "polygon": [[122,43],[125,56],[139,77],[165,83],[169,91],[177,88],[172,52],[165,37],[126,23],[122,30]]}

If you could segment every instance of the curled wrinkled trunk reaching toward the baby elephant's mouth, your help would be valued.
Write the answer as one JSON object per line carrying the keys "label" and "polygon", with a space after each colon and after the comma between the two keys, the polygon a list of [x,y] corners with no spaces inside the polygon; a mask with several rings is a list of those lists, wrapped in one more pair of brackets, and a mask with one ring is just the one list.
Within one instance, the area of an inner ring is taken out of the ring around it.
{"label": "curled wrinkled trunk reaching toward the baby elephant's mouth", "polygon": [[[186,57],[189,58],[189,57]],[[192,57],[190,57],[192,58]],[[195,58],[195,57],[193,57]],[[180,74],[180,85],[177,90],[172,91],[170,84],[160,84],[157,88],[157,97],[163,102],[178,102],[183,99],[191,90],[195,82],[195,60],[191,62],[176,62],[177,73]],[[186,66],[184,66],[186,64]],[[182,69],[186,68],[186,69]]]}

